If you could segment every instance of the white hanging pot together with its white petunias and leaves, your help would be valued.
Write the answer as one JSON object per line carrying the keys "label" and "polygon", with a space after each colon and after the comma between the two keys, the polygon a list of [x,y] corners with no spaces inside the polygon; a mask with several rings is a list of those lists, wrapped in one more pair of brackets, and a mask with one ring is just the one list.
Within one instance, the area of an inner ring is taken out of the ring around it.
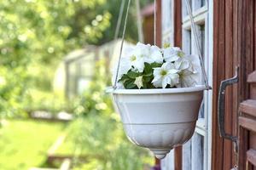
{"label": "white hanging pot together with its white petunias and leaves", "polygon": [[203,98],[200,61],[180,48],[138,42],[119,59],[112,94],[132,143],[164,158],[188,141]]}

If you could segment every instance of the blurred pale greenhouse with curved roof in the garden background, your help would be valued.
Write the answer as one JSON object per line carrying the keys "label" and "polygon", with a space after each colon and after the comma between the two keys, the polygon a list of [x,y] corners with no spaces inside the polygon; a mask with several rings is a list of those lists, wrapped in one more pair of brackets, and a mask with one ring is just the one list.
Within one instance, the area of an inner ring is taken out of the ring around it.
{"label": "blurred pale greenhouse with curved roof in the garden background", "polygon": [[[67,54],[55,71],[55,91],[65,94],[68,99],[81,94],[88,88],[97,60],[107,59],[106,71],[112,71],[111,68],[119,57],[120,43],[121,40],[118,39],[101,46],[88,45]],[[124,42],[124,50],[131,46],[132,43]]]}

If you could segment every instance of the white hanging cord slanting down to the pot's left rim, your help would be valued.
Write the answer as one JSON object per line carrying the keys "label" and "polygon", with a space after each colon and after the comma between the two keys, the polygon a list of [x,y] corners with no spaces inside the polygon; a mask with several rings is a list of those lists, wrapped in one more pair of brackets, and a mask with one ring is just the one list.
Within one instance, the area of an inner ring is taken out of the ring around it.
{"label": "white hanging cord slanting down to the pot's left rim", "polygon": [[124,41],[125,41],[125,31],[126,31],[127,18],[128,18],[128,14],[129,14],[130,4],[131,4],[131,0],[129,0],[128,4],[127,4],[127,9],[126,9],[126,14],[125,14],[125,24],[124,24],[121,48],[120,48],[120,53],[119,53],[119,63],[118,63],[118,67],[117,67],[117,71],[116,71],[116,75],[115,75],[115,79],[114,79],[113,89],[117,88],[117,82],[118,82],[118,76],[119,76],[119,67],[120,67],[121,56],[122,56],[123,46],[124,46]]}

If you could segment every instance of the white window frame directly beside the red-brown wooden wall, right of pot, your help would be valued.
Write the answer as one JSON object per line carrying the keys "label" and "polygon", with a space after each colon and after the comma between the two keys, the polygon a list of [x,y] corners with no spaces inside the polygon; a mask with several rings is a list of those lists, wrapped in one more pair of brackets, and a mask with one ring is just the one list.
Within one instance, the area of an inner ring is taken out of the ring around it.
{"label": "white window frame directly beside the red-brown wooden wall, right of pot", "polygon": [[[205,26],[204,40],[204,62],[207,70],[209,85],[212,86],[212,47],[213,47],[213,3],[211,0],[206,0],[206,4],[201,6],[201,0],[192,0],[192,14],[195,20],[196,28]],[[200,6],[199,6],[200,5]],[[186,53],[197,54],[195,48],[195,37],[191,32],[191,22],[187,14],[186,3],[183,0],[183,50]],[[196,8],[196,9],[195,9]],[[190,33],[189,33],[190,31]],[[199,31],[199,30],[198,30]],[[183,169],[186,170],[210,170],[212,159],[212,91],[204,92],[204,118],[199,118],[196,122],[195,135],[187,144],[183,146]],[[200,141],[199,134],[204,140],[203,143],[203,164],[201,165],[201,155],[197,152]],[[189,151],[190,150],[190,151]]]}

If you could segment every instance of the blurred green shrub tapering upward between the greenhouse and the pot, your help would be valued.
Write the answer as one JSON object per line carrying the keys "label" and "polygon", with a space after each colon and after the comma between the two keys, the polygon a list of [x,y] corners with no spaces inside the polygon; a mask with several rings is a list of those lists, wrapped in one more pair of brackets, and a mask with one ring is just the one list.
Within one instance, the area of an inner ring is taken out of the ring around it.
{"label": "blurred green shrub tapering upward between the greenhouse and the pot", "polygon": [[67,139],[58,154],[88,156],[74,159],[74,169],[139,170],[152,165],[148,150],[139,148],[126,138],[117,113],[113,111],[106,59],[96,63],[90,87],[73,103],[76,119],[67,127]]}

